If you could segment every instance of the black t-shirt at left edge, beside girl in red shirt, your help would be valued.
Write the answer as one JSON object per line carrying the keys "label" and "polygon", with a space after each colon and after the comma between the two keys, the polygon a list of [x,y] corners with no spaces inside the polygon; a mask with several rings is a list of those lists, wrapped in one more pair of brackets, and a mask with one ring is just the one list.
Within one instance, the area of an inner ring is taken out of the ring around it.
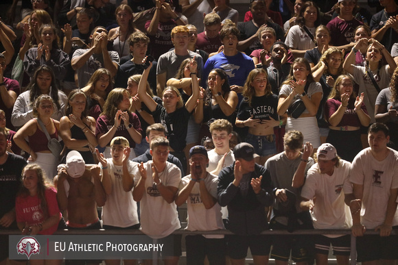
{"label": "black t-shirt at left edge, beside girl in red shirt", "polygon": [[21,186],[21,173],[26,160],[8,153],[7,161],[0,165],[0,218],[15,207],[16,192]]}

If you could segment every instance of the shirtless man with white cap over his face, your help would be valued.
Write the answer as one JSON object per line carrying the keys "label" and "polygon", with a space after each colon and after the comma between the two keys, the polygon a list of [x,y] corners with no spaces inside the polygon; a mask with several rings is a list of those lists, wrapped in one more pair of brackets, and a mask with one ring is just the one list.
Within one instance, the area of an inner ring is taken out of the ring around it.
{"label": "shirtless man with white cap over his face", "polygon": [[[104,206],[106,193],[101,183],[100,169],[100,166],[86,166],[78,151],[69,152],[67,164],[60,166],[56,177],[57,199],[60,210],[67,211],[68,229],[101,228],[97,206]],[[77,260],[71,262],[78,264]],[[101,261],[86,262],[98,264]]]}

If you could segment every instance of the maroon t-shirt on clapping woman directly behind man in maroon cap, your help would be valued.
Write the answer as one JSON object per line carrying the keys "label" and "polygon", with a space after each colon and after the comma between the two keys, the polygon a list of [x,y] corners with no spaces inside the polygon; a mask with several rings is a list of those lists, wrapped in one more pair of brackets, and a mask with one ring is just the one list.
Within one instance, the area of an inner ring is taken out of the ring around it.
{"label": "maroon t-shirt on clapping woman directly behind man in maroon cap", "polygon": [[[112,117],[111,120],[114,120],[115,117]],[[141,129],[141,123],[139,122],[139,118],[137,114],[135,113],[130,113],[130,118],[129,118],[129,123],[132,124],[132,127],[136,129],[141,135],[142,135],[142,129]],[[106,115],[101,115],[97,118],[97,123],[95,125],[95,136],[98,134],[106,134],[111,128],[113,127],[113,124],[110,124],[110,118]],[[117,127],[117,131],[115,132],[115,136],[123,136],[126,138],[130,144],[130,148],[135,147],[135,142],[132,140],[130,134],[128,133],[128,124],[124,125],[124,121],[121,121],[121,125]],[[109,145],[110,142],[108,142]]]}

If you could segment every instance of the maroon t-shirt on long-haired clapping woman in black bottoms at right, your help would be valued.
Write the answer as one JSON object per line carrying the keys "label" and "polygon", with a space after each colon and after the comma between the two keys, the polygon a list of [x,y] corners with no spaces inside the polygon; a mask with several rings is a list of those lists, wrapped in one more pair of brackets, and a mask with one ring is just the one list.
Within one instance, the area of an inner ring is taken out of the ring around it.
{"label": "maroon t-shirt on long-haired clapping woman in black bottoms at right", "polygon": [[[358,118],[358,114],[355,111],[354,107],[355,99],[350,99],[349,104],[342,116],[340,123],[337,125],[338,127],[344,126],[353,126],[353,127],[360,127],[361,122],[360,118]],[[341,101],[337,99],[328,99],[325,103],[325,114],[327,115],[327,121],[329,121],[330,116],[337,111],[338,107],[340,107]],[[361,109],[368,114],[366,110],[365,104],[362,103]],[[330,125],[330,123],[329,123]]]}

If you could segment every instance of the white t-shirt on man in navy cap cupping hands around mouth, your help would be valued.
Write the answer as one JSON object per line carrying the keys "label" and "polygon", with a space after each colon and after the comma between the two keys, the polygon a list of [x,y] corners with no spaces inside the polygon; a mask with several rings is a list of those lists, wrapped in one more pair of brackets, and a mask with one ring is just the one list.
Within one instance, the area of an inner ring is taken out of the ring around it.
{"label": "white t-shirt on man in navy cap cupping hands around mouth", "polygon": [[[182,190],[189,184],[191,175],[183,177],[180,182],[179,190]],[[204,185],[209,191],[211,196],[217,199],[217,186],[218,177],[216,175],[207,174],[204,179]],[[196,182],[194,188],[187,199],[188,209],[188,225],[187,230],[189,231],[211,231],[217,229],[224,229],[224,223],[222,223],[221,206],[215,203],[211,209],[206,209],[202,203],[200,197],[200,184]],[[224,238],[224,235],[203,235],[205,238]]]}

